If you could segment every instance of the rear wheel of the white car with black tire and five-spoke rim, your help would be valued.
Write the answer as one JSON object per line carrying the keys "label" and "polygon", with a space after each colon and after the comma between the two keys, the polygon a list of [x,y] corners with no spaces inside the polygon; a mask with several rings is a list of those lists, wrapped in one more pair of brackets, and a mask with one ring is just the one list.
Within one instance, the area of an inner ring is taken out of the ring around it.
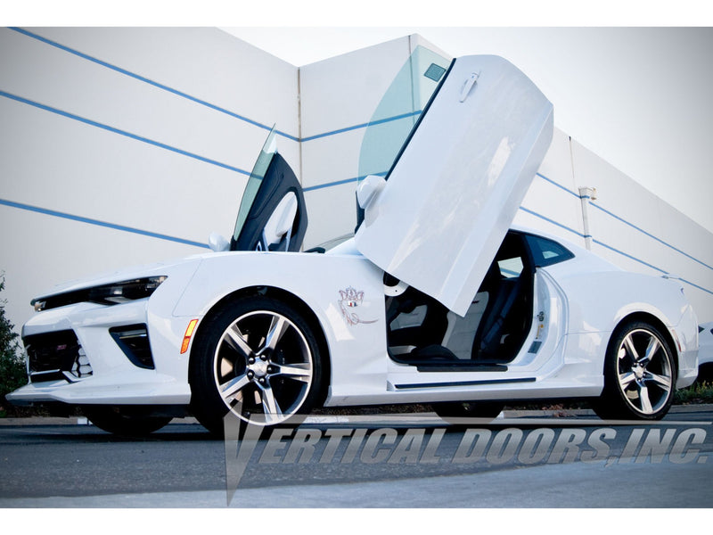
{"label": "rear wheel of the white car with black tire and five-spoke rim", "polygon": [[611,335],[604,362],[604,390],[594,412],[611,420],[660,420],[676,390],[676,364],[655,326],[634,321]]}

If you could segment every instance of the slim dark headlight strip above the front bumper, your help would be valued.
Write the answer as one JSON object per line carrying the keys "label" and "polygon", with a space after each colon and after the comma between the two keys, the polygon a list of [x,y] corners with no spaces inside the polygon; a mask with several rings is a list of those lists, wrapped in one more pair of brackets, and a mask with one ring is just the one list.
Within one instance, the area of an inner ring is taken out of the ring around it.
{"label": "slim dark headlight strip above the front bumper", "polygon": [[149,297],[166,280],[166,276],[149,276],[120,283],[102,284],[74,292],[58,293],[31,301],[35,310],[56,309],[74,303],[92,302],[101,305],[119,305]]}

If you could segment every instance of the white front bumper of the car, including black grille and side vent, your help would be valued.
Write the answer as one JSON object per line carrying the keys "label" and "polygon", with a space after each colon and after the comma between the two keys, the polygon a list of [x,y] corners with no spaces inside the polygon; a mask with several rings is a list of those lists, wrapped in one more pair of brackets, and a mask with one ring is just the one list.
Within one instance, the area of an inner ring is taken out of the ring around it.
{"label": "white front bumper of the car, including black grille and side vent", "polygon": [[22,328],[31,382],[7,399],[16,405],[188,405],[190,351],[180,348],[193,317],[173,311],[198,264],[164,267],[168,279],[149,298],[37,313]]}

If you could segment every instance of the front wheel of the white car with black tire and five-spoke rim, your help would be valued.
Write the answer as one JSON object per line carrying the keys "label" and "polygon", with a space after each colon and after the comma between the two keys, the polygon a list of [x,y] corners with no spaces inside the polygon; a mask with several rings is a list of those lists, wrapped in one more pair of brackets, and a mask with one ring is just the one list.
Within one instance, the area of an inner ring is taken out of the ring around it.
{"label": "front wheel of the white car with black tire and five-spoke rim", "polygon": [[307,321],[283,301],[239,298],[201,326],[189,382],[193,415],[217,436],[228,411],[251,424],[290,424],[319,398],[318,344]]}

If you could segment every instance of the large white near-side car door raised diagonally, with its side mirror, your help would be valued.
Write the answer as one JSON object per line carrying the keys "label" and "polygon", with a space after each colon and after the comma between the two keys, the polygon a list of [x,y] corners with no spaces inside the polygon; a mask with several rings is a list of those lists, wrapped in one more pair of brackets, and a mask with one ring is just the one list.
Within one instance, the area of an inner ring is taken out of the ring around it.
{"label": "large white near-side car door raised diagonally, with its side mirror", "polygon": [[464,316],[552,136],[552,103],[510,62],[454,60],[387,176],[359,186],[357,249]]}

